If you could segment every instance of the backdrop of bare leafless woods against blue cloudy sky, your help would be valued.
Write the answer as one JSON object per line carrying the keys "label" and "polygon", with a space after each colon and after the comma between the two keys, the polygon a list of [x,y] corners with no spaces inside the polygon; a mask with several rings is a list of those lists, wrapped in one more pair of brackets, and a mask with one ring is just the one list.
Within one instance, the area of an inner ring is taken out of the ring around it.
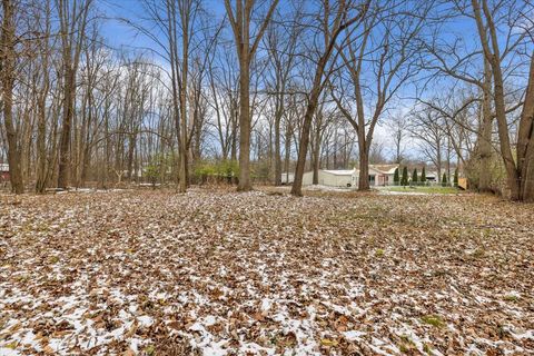
{"label": "backdrop of bare leafless woods against blue cloudy sky", "polygon": [[[17,194],[249,190],[295,172],[298,196],[305,170],[354,166],[366,190],[368,165],[394,161],[533,200],[533,13],[528,0],[2,0],[0,160]],[[110,21],[142,41],[115,46]]]}

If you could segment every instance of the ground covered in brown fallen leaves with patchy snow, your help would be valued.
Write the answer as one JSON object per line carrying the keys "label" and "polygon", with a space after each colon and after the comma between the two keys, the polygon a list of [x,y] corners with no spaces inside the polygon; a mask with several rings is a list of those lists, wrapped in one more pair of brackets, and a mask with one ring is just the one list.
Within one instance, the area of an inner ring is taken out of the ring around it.
{"label": "ground covered in brown fallen leaves with patchy snow", "polygon": [[533,355],[534,206],[0,196],[0,355]]}

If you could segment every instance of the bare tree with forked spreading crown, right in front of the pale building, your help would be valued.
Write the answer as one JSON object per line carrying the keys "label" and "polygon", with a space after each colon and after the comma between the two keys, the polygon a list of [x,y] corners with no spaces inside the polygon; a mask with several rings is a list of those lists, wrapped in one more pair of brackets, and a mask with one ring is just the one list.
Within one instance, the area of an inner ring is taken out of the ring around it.
{"label": "bare tree with forked spreading crown, right in front of the pale building", "polygon": [[339,49],[348,78],[339,71],[333,97],[358,135],[359,190],[369,189],[368,157],[376,125],[392,98],[418,71],[414,42],[431,7],[432,1],[424,6],[377,1],[362,29],[348,32],[347,44]]}

